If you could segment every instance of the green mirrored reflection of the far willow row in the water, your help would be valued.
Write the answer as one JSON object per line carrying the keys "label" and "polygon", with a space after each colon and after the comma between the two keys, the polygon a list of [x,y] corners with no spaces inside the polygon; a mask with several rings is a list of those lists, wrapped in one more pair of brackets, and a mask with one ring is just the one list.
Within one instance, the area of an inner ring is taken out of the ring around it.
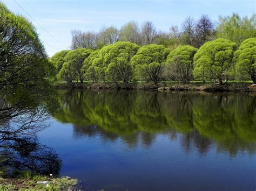
{"label": "green mirrored reflection of the far willow row in the water", "polygon": [[212,144],[234,157],[255,152],[256,95],[160,93],[157,91],[59,91],[59,112],[76,136],[121,138],[150,147],[158,133],[181,136],[186,152],[207,153]]}

